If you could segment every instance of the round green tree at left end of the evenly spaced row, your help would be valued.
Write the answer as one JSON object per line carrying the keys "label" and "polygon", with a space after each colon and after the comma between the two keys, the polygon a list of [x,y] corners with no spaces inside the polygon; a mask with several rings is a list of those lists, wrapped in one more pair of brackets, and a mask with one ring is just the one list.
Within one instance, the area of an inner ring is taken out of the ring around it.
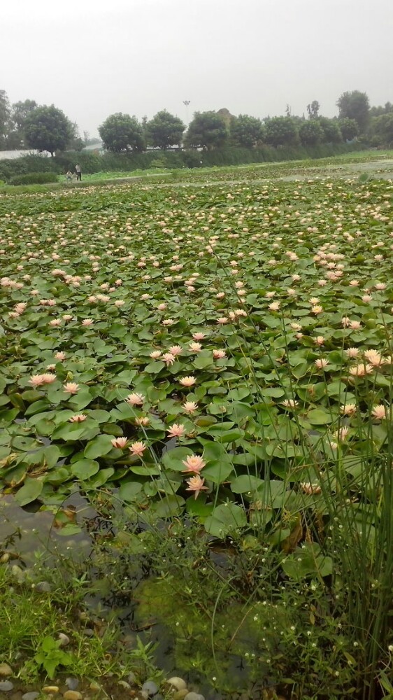
{"label": "round green tree at left end of the evenly spaced row", "polygon": [[110,114],[99,127],[99,135],[107,151],[122,153],[138,152],[145,149],[143,129],[136,117],[116,112]]}

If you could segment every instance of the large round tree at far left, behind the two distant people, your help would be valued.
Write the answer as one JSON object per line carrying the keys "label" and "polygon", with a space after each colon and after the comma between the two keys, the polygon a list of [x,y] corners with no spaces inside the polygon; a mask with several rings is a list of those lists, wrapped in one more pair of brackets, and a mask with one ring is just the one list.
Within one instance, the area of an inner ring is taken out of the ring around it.
{"label": "large round tree at far left, behind the two distant people", "polygon": [[65,151],[73,137],[73,125],[54,104],[32,110],[24,120],[24,142],[37,151]]}

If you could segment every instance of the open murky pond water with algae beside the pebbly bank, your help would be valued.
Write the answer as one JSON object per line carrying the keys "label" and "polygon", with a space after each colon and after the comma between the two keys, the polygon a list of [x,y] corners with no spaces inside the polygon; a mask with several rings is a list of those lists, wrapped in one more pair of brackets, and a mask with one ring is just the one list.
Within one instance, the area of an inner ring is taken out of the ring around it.
{"label": "open murky pond water with algae beside the pebbly bank", "polygon": [[[62,514],[61,526],[59,513]],[[69,520],[66,526],[64,519]],[[76,530],[77,526],[80,531],[72,533],[71,528]],[[39,552],[45,554],[45,566],[57,566],[59,555],[72,558],[75,562],[87,562],[94,552],[97,538],[101,538],[101,542],[110,541],[116,535],[116,528],[110,517],[97,512],[77,491],[64,500],[61,509],[55,512],[36,510],[33,505],[20,507],[13,496],[1,496],[0,533],[2,551],[10,554],[8,566],[18,566],[24,570],[34,566]],[[233,554],[230,550],[224,547],[211,550],[210,559],[220,575],[225,575],[231,556]],[[94,556],[92,561],[94,562]],[[131,566],[130,570],[127,570],[128,565],[127,559],[125,573],[129,576],[129,591],[115,591],[111,587],[109,575],[103,577],[102,569],[100,573],[100,569],[94,568],[93,563],[90,575],[96,593],[90,593],[86,599],[92,612],[99,610],[103,617],[109,617],[115,612],[126,645],[134,648],[137,637],[144,644],[153,643],[156,645],[157,667],[166,674],[175,673],[185,678],[189,687],[198,688],[209,700],[219,700],[235,691],[247,692],[250,697],[254,692],[256,697],[261,696],[262,686],[269,686],[269,682],[264,678],[255,682],[243,654],[236,654],[230,648],[227,650],[228,638],[224,630],[217,636],[217,661],[215,659],[213,664],[211,652],[206,650],[206,635],[210,631],[206,631],[205,622],[198,622],[192,615],[190,622],[185,622],[187,605],[183,604],[182,610],[180,602],[171,598],[171,592],[168,595],[166,589],[156,587],[156,577],[152,576],[149,568],[141,566],[141,561],[136,566]],[[168,624],[165,624],[166,615]],[[173,624],[173,615],[179,616],[180,623]],[[224,615],[227,615],[226,611]],[[176,624],[179,625],[178,629]],[[220,627],[224,628],[224,624],[220,624]],[[255,640],[252,634],[247,637],[249,632],[245,630],[243,633],[241,645],[248,648],[251,655]],[[220,692],[214,689],[216,685],[219,685]]]}

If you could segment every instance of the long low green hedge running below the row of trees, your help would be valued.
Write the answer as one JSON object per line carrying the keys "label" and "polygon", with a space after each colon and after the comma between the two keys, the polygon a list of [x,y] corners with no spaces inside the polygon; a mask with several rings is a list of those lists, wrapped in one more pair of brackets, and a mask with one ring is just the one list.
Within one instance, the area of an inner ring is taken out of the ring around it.
{"label": "long low green hedge running below the row of trees", "polygon": [[216,148],[214,151],[150,151],[149,153],[62,153],[55,158],[43,155],[24,155],[14,160],[0,160],[0,180],[10,181],[17,175],[31,172],[65,174],[79,163],[85,174],[97,172],[148,169],[159,160],[167,168],[197,168],[214,165],[242,165],[245,163],[327,158],[331,155],[362,150],[362,144],[322,144],[294,148],[263,146],[262,148]]}

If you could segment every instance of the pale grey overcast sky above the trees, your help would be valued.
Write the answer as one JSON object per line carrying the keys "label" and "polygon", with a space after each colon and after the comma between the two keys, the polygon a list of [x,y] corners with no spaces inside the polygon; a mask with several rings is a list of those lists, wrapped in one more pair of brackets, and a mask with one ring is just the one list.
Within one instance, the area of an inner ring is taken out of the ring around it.
{"label": "pale grey overcast sky above the trees", "polygon": [[393,102],[393,0],[0,0],[0,89],[97,136],[111,113]]}

